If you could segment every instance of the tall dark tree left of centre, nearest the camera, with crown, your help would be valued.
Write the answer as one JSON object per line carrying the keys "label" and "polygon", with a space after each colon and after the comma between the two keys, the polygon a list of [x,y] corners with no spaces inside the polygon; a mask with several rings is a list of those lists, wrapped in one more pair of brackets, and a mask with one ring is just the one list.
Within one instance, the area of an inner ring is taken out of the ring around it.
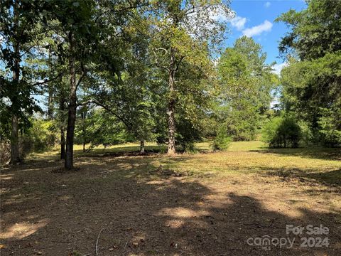
{"label": "tall dark tree left of centre, nearest the camera, with crown", "polygon": [[[67,45],[64,53],[69,75],[65,169],[73,169],[77,88],[85,77],[86,65],[93,56],[99,27],[94,21],[94,1],[52,1],[50,4],[55,9],[45,26],[62,37]],[[60,102],[60,107],[63,108],[63,102]]]}

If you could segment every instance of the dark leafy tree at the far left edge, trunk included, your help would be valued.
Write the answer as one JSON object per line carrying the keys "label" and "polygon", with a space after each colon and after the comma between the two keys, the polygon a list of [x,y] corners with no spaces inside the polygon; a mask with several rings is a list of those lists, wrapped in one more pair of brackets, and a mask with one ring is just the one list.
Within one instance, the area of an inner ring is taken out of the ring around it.
{"label": "dark leafy tree at the far left edge, trunk included", "polygon": [[22,161],[18,129],[27,127],[28,115],[38,110],[31,95],[40,82],[33,82],[26,73],[26,61],[35,55],[43,36],[38,26],[43,10],[48,11],[44,1],[1,1],[0,54],[5,67],[1,75],[1,114],[11,116],[11,164]]}

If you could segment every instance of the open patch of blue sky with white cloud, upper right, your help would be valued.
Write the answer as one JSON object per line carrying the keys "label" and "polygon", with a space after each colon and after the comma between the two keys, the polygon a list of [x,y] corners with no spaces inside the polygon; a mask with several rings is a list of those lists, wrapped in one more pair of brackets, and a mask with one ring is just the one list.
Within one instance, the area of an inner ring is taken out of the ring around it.
{"label": "open patch of blue sky with white cloud, upper right", "polygon": [[273,63],[276,73],[283,67],[283,59],[279,58],[278,41],[288,31],[284,23],[274,20],[284,12],[294,9],[301,11],[306,8],[303,0],[232,0],[231,8],[236,16],[229,22],[230,34],[224,42],[232,46],[237,38],[245,35],[254,38],[263,46],[267,53],[266,63]]}

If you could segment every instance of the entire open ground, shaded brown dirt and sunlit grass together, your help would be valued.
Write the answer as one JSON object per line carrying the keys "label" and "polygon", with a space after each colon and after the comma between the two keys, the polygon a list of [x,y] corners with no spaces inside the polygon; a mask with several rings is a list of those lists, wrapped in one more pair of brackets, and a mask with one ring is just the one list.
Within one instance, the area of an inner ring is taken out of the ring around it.
{"label": "entire open ground, shaded brown dirt and sunlit grass together", "polygon": [[[6,167],[0,254],[341,255],[340,149],[278,152],[79,156],[66,173],[53,158]],[[329,245],[301,247],[309,237]],[[287,238],[291,248],[276,245]]]}

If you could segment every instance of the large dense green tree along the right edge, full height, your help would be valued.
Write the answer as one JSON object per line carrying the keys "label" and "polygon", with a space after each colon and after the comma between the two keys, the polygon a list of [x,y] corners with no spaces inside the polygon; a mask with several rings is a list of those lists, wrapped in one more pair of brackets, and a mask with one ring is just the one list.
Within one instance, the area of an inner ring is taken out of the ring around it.
{"label": "large dense green tree along the right edge, full height", "polygon": [[313,0],[277,18],[291,28],[279,46],[290,53],[281,73],[283,107],[310,124],[315,141],[327,144],[341,143],[340,16],[340,1]]}

